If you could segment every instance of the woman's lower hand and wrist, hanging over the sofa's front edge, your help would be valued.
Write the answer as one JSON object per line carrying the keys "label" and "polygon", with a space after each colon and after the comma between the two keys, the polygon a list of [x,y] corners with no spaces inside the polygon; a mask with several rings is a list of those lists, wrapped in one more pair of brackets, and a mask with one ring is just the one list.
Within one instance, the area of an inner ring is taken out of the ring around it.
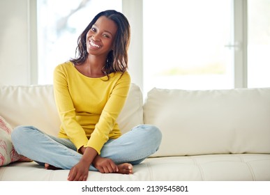
{"label": "woman's lower hand and wrist, hanging over the sofa's front edge", "polygon": [[68,173],[69,181],[86,181],[89,173],[89,167],[93,162],[93,159],[98,155],[95,149],[87,147],[80,148],[80,152],[83,154],[80,162],[75,164]]}

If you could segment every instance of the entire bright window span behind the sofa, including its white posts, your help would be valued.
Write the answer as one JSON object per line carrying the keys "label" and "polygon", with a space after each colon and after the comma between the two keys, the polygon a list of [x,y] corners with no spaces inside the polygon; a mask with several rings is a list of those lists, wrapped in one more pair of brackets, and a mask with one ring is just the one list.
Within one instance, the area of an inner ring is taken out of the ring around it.
{"label": "entire bright window span behind the sofa, including its white posts", "polygon": [[38,84],[51,84],[54,67],[75,56],[77,37],[94,15],[115,9],[130,21],[129,70],[144,95],[153,87],[270,86],[270,0],[37,3]]}

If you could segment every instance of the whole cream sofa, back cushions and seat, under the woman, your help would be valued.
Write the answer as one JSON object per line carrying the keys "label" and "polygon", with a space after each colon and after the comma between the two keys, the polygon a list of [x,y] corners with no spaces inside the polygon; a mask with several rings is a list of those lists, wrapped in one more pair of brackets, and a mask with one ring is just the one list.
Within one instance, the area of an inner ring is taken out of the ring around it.
{"label": "whole cream sofa, back cushions and seat, under the woman", "polygon": [[[0,86],[0,116],[57,135],[52,86]],[[184,91],[131,85],[119,119],[123,133],[142,123],[163,133],[157,153],[132,175],[90,171],[88,180],[270,180],[270,88]],[[66,180],[68,170],[35,162],[0,166],[0,180]]]}

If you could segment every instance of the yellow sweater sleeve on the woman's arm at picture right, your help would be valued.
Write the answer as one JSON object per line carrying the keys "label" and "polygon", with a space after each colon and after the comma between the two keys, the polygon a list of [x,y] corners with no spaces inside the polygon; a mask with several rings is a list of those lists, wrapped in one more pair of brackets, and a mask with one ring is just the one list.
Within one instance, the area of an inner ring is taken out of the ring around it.
{"label": "yellow sweater sleeve on the woman's arm at picture right", "polygon": [[124,72],[115,84],[86,147],[94,148],[100,154],[100,150],[109,139],[110,131],[126,102],[129,88],[130,75],[128,72]]}

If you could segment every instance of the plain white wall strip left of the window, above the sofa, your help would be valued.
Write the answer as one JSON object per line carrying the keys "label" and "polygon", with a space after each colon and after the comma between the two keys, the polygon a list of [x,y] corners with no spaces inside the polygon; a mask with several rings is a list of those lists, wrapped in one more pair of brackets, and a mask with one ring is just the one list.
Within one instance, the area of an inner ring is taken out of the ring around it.
{"label": "plain white wall strip left of the window, above the sofa", "polygon": [[29,3],[0,1],[0,84],[29,84]]}

